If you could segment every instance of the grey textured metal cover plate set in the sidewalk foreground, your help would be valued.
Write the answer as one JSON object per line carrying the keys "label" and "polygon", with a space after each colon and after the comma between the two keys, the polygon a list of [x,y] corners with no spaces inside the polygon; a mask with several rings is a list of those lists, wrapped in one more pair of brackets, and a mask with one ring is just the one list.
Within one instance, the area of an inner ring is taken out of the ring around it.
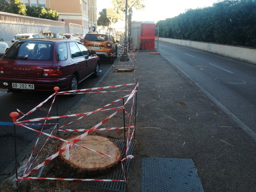
{"label": "grey textured metal cover plate set in the sidewalk foreground", "polygon": [[203,192],[192,159],[142,159],[142,192]]}

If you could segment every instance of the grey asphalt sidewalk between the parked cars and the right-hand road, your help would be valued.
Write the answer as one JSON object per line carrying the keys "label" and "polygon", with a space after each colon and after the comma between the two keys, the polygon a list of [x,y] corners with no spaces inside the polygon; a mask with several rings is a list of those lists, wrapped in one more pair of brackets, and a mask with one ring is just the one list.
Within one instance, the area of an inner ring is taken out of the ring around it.
{"label": "grey asphalt sidewalk between the parked cars and the right-hand road", "polygon": [[[98,87],[136,83],[137,79],[136,147],[127,191],[141,191],[145,157],[192,159],[207,192],[256,190],[256,151],[239,127],[229,123],[161,54],[139,52],[134,72],[110,71]],[[95,102],[91,94],[74,113],[84,112]],[[122,138],[114,131],[111,136]]]}

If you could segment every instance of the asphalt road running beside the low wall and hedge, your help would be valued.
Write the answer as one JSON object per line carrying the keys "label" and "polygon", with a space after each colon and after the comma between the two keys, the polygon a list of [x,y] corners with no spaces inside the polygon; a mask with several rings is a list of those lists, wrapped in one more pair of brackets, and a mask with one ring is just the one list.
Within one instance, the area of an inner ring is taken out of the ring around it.
{"label": "asphalt road running beside the low wall and hedge", "polygon": [[256,140],[256,65],[165,42],[159,51]]}

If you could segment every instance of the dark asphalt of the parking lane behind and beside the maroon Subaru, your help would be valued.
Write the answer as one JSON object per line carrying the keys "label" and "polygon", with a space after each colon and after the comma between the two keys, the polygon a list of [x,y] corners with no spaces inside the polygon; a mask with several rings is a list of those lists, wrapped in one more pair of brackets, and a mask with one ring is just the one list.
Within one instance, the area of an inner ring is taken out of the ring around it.
{"label": "dark asphalt of the parking lane behind and beside the maroon Subaru", "polygon": [[[99,76],[97,78],[89,77],[83,83],[79,84],[78,89],[96,87],[110,67],[111,64],[108,60],[101,59]],[[17,109],[21,110],[23,113],[27,113],[48,98],[52,93],[32,91],[7,93],[7,90],[4,89],[0,91],[0,147],[2,151],[1,155],[4,157],[0,158],[0,180],[2,181],[10,174],[10,171],[14,168],[13,163],[15,162],[14,126],[9,116],[10,113],[14,111],[17,112]],[[86,97],[87,95],[85,94],[76,95],[75,97],[65,95],[58,97],[58,115],[70,114]],[[31,114],[30,118],[45,117],[49,111],[50,104],[51,103],[48,102],[41,106]],[[54,106],[51,111],[50,115],[56,116],[56,106]],[[50,127],[49,125],[45,128]],[[39,129],[37,126],[33,128]],[[31,143],[37,138],[38,134],[26,128],[17,128],[16,135],[17,155],[18,161],[20,162],[27,154],[25,151],[31,150]]]}

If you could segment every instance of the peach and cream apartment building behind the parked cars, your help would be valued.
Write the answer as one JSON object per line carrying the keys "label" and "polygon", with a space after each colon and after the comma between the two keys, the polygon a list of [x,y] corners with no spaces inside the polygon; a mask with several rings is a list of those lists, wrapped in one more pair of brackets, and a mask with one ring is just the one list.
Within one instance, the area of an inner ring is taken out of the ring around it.
{"label": "peach and cream apartment building behind the parked cars", "polygon": [[25,5],[50,8],[59,13],[65,22],[66,33],[73,33],[70,26],[80,26],[83,33],[97,29],[97,0],[22,0]]}

